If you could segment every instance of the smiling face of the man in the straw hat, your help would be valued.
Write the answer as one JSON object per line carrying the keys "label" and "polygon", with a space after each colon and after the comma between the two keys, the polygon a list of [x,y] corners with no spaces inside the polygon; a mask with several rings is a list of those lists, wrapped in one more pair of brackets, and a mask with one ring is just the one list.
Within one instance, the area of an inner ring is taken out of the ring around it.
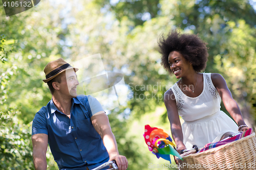
{"label": "smiling face of the man in the straw hat", "polygon": [[63,83],[66,84],[66,87],[64,85],[65,93],[69,92],[70,95],[72,95],[73,97],[76,97],[77,96],[76,86],[79,84],[79,82],[77,80],[77,76],[76,76],[76,73],[75,73],[74,69],[67,69],[66,70],[66,77],[63,76],[62,78],[63,79],[66,78],[66,80],[61,81],[61,83],[63,82]]}

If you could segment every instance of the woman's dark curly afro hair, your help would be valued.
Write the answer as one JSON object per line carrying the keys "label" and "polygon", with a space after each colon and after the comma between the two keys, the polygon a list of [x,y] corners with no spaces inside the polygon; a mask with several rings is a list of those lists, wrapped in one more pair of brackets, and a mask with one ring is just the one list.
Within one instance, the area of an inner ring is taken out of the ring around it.
{"label": "woman's dark curly afro hair", "polygon": [[159,52],[162,54],[161,64],[173,74],[168,63],[170,52],[179,52],[187,61],[191,62],[196,72],[201,72],[206,67],[208,58],[208,48],[197,35],[180,34],[177,29],[170,32],[165,38],[162,34],[158,40]]}

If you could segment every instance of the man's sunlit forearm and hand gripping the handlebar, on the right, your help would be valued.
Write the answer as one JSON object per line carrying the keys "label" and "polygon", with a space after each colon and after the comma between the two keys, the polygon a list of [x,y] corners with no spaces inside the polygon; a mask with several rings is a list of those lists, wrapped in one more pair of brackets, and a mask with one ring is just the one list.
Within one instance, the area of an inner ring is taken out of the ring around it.
{"label": "man's sunlit forearm and hand gripping the handlebar, on the right", "polygon": [[125,156],[121,156],[118,153],[116,139],[111,131],[108,116],[105,113],[95,114],[91,117],[91,121],[95,130],[101,136],[103,144],[109,153],[110,160],[116,160],[118,169],[127,169],[128,161]]}

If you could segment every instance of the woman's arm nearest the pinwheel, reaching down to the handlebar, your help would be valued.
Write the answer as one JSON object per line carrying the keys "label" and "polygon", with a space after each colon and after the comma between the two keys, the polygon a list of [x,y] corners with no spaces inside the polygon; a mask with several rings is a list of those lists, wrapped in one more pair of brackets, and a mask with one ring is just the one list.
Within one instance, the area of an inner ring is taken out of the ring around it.
{"label": "woman's arm nearest the pinwheel, reaching down to the handlebar", "polygon": [[176,143],[177,151],[180,153],[180,151],[185,150],[186,147],[183,143],[183,133],[181,130],[180,117],[178,114],[175,95],[170,89],[164,93],[164,104],[170,122],[170,130],[172,131],[172,136]]}

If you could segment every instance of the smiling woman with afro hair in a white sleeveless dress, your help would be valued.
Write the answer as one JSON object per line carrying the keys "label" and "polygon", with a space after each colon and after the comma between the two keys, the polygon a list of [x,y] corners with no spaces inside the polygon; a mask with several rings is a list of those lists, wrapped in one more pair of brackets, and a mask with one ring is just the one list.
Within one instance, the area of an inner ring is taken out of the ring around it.
{"label": "smiling woman with afro hair in a white sleeveless dress", "polygon": [[[206,67],[207,47],[198,36],[172,31],[159,40],[161,64],[177,79],[164,93],[170,129],[177,151],[199,148],[246,131],[241,111],[225,79],[216,73],[200,73]],[[234,121],[220,110],[221,99]],[[184,119],[181,126],[179,115]]]}

